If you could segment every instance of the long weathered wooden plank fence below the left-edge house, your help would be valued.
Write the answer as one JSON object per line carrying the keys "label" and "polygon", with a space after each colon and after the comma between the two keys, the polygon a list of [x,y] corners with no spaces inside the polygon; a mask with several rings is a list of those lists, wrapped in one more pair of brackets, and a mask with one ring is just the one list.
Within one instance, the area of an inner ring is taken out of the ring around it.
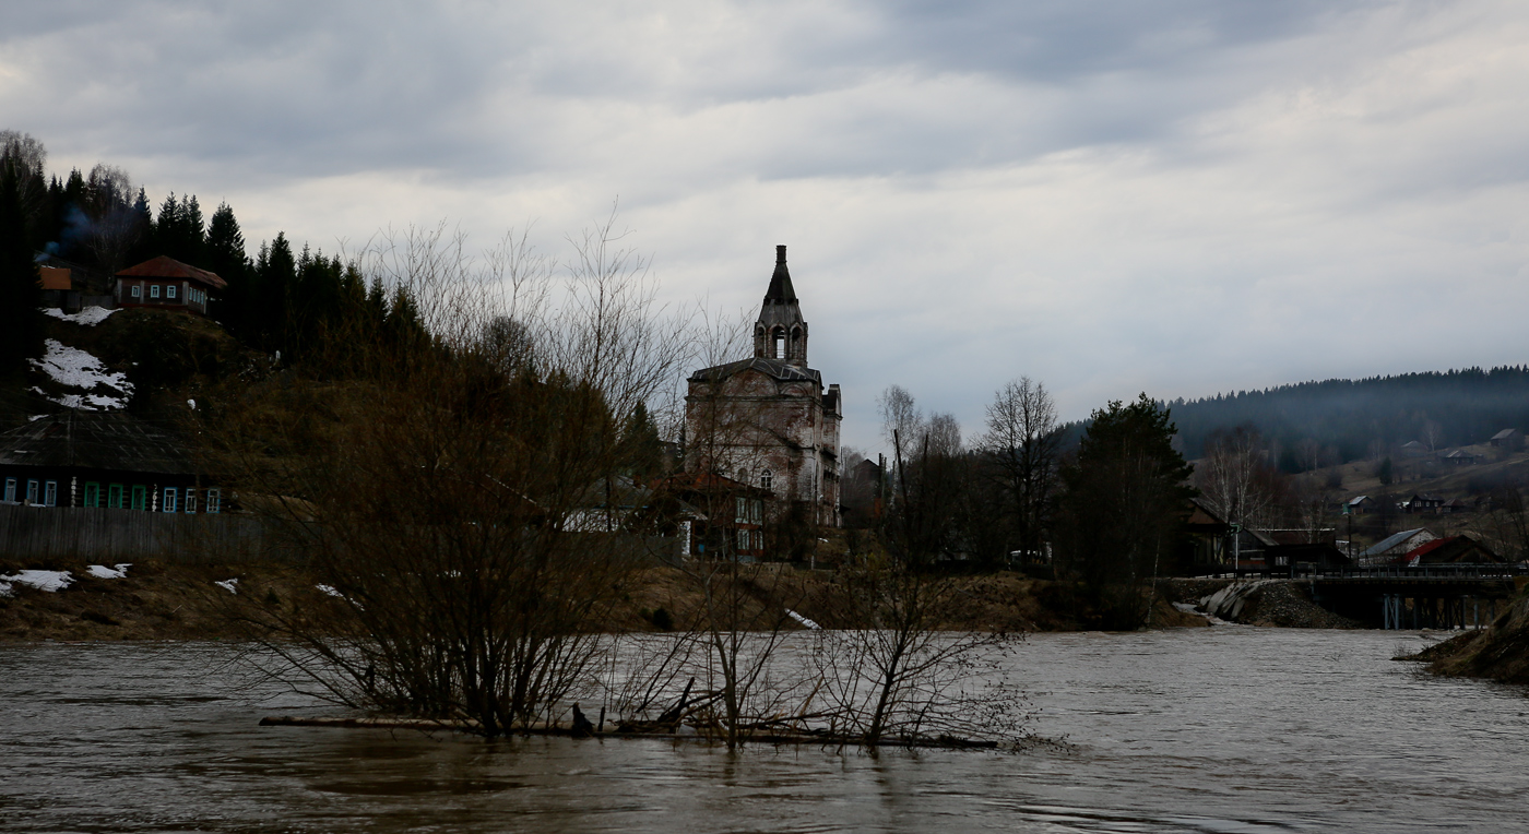
{"label": "long weathered wooden plank fence below the left-edge house", "polygon": [[287,554],[251,516],[0,506],[0,556],[11,559],[246,562]]}

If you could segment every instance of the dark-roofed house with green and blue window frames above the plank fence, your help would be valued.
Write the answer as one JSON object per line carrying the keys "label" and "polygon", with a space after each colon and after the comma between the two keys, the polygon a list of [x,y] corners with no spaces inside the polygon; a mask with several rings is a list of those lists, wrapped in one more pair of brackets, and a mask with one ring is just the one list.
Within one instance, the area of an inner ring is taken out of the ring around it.
{"label": "dark-roofed house with green and blue window frames above the plank fence", "polygon": [[0,434],[0,504],[157,513],[228,510],[177,426],[122,411],[66,411]]}

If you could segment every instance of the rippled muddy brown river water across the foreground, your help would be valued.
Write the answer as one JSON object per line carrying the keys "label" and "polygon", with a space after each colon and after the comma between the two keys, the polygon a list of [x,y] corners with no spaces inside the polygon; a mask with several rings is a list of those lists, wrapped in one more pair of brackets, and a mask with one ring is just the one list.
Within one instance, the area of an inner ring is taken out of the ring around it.
{"label": "rippled muddy brown river water across the foreground", "polygon": [[258,727],[203,645],[0,646],[0,831],[1529,831],[1529,692],[1416,632],[1041,634],[1027,753]]}

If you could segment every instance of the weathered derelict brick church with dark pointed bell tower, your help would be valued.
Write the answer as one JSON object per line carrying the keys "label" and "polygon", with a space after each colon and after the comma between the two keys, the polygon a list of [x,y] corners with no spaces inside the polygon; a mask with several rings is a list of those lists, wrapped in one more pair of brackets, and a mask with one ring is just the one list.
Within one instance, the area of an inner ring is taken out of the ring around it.
{"label": "weathered derelict brick church with dark pointed bell tower", "polygon": [[775,493],[813,524],[839,524],[839,386],[807,367],[807,322],[775,247],[754,356],[702,368],[685,397],[685,466]]}

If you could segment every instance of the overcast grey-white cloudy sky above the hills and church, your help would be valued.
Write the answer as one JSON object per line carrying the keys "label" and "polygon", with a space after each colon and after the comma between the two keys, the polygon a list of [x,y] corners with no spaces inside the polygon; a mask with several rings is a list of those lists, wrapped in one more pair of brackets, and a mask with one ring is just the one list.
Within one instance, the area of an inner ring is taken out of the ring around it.
{"label": "overcast grey-white cloudy sky above the hills and church", "polygon": [[[1138,391],[1526,360],[1529,5],[0,0],[0,128],[226,200],[251,246],[619,197],[665,298],[968,434]],[[518,8],[514,8],[518,6]]]}

